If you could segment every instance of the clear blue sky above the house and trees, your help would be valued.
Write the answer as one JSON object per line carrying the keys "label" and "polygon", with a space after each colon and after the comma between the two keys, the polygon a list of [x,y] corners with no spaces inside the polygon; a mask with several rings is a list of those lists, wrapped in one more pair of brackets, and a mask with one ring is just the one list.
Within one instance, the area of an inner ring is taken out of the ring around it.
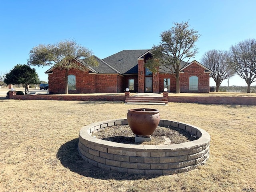
{"label": "clear blue sky above the house and trees", "polygon": [[[0,0],[0,72],[26,64],[34,46],[64,39],[102,59],[122,50],[150,49],[173,22],[186,21],[201,34],[194,58],[200,62],[208,50],[228,50],[256,38],[255,7],[255,0]],[[40,80],[48,81],[48,68],[36,68]],[[227,85],[224,80],[222,86]],[[237,76],[230,78],[232,85],[246,83]]]}

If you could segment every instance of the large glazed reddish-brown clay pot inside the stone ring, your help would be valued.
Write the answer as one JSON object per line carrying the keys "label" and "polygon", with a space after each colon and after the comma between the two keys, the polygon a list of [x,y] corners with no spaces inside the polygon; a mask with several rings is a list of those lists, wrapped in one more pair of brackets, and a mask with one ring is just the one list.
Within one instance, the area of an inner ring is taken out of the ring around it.
{"label": "large glazed reddish-brown clay pot inside the stone ring", "polygon": [[151,135],[160,122],[159,110],[147,108],[128,109],[127,121],[134,134],[140,136]]}

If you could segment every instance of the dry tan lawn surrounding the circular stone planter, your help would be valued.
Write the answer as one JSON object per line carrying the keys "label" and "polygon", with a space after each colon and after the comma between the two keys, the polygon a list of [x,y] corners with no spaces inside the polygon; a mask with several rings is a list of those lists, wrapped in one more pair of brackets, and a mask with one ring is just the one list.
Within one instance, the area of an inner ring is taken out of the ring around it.
{"label": "dry tan lawn surrounding the circular stone planter", "polygon": [[[169,103],[162,119],[211,135],[204,166],[170,176],[109,172],[78,155],[82,126],[125,118],[122,102],[0,100],[0,191],[256,192],[256,107]],[[149,107],[149,106],[147,106]]]}

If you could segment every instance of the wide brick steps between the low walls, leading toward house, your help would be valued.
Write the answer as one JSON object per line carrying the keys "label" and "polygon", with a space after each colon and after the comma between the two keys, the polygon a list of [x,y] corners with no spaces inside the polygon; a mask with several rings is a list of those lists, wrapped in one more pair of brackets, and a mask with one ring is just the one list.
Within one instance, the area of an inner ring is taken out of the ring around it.
{"label": "wide brick steps between the low walls, leading toward house", "polygon": [[163,97],[128,97],[124,101],[126,104],[168,104],[167,98]]}

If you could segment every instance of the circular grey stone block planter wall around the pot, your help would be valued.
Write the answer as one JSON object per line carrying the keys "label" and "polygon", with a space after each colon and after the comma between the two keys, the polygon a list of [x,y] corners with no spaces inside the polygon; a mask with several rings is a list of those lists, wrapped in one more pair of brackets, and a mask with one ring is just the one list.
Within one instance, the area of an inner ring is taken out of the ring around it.
{"label": "circular grey stone block planter wall around the pot", "polygon": [[107,170],[132,174],[170,175],[187,172],[209,158],[210,135],[195,126],[170,120],[167,125],[190,132],[197,139],[170,145],[123,144],[97,139],[92,132],[114,125],[128,124],[127,119],[107,120],[84,126],[79,133],[78,152],[86,162]]}

